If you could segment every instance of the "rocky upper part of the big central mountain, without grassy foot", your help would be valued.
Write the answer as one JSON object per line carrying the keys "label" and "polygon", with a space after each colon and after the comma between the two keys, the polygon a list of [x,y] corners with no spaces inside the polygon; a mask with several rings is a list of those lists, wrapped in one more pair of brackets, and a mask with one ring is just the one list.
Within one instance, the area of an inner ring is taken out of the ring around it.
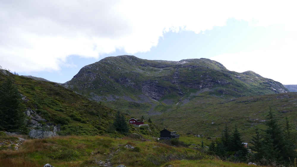
{"label": "rocky upper part of the big central mountain, without grassy foot", "polygon": [[[229,71],[210,59],[145,60],[123,55],[80,69],[63,84],[97,101],[182,101],[201,90],[225,98],[288,92],[281,83],[253,71]],[[149,99],[149,100],[148,100]]]}

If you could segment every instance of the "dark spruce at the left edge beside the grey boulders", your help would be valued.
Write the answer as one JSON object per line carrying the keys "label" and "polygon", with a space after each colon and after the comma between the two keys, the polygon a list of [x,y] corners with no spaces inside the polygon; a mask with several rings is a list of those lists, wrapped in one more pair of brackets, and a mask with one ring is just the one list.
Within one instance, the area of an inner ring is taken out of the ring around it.
{"label": "dark spruce at the left edge beside the grey boulders", "polygon": [[25,106],[12,79],[0,85],[0,130],[26,133]]}

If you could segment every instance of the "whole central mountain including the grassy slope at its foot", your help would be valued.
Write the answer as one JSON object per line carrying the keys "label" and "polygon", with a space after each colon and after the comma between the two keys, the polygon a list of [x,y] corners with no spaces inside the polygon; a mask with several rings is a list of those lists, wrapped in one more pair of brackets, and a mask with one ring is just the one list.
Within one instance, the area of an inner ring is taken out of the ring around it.
{"label": "whole central mountain including the grassy slope at its foot", "polygon": [[160,127],[208,136],[219,135],[224,122],[238,124],[248,136],[269,106],[278,111],[286,103],[268,97],[289,92],[277,81],[253,71],[229,71],[210,59],[153,61],[128,55],[85,66],[63,85],[131,116],[150,117]]}

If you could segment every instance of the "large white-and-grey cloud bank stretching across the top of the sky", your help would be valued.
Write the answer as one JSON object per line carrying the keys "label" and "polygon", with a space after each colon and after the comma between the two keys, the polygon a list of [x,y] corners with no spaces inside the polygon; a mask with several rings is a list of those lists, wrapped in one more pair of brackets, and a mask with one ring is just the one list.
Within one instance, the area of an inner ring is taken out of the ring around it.
{"label": "large white-and-grey cloud bank stretching across the top of the sky", "polygon": [[223,26],[231,17],[257,20],[258,26],[280,24],[295,32],[297,13],[292,3],[0,1],[0,63],[18,72],[59,70],[69,55],[99,57],[116,49],[146,52],[168,31],[199,33]]}

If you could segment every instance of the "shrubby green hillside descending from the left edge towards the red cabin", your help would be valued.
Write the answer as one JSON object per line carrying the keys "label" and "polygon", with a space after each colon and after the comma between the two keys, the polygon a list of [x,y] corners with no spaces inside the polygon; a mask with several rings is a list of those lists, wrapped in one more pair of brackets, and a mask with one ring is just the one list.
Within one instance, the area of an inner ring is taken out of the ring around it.
{"label": "shrubby green hillside descending from the left edge towards the red cabin", "polygon": [[49,122],[60,124],[63,134],[106,133],[113,123],[115,110],[54,82],[34,80],[1,70],[0,85],[8,78],[15,82],[19,93],[26,96],[23,104]]}

